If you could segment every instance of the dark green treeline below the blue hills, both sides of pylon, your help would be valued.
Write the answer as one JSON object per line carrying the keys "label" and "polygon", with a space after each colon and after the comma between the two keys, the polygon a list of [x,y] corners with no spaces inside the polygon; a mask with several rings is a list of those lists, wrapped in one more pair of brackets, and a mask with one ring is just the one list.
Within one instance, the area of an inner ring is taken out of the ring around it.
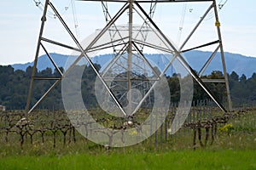
{"label": "dark green treeline below the blue hills, both sides of pylon", "polygon": [[[100,65],[96,65],[99,70]],[[61,68],[63,71],[63,69]],[[0,105],[5,105],[8,110],[25,109],[26,99],[31,81],[32,67],[26,68],[26,71],[14,70],[12,66],[0,66]],[[84,104],[86,107],[96,107],[96,97],[94,93],[96,74],[90,66],[86,66],[82,77],[81,90],[83,94]],[[59,77],[58,71],[52,71],[50,68],[44,71],[37,71],[36,77]],[[179,80],[178,75],[173,74],[172,77],[166,77],[169,83],[172,102],[179,100]],[[203,78],[223,78],[221,71],[212,71],[211,75]],[[250,78],[242,75],[239,77],[235,71],[229,75],[230,93],[234,105],[243,103],[253,103],[256,101],[256,73]],[[44,92],[51,86],[53,80],[44,80],[34,82],[32,89],[32,105],[41,98]],[[220,101],[225,101],[226,92],[224,83],[207,83],[208,88]],[[194,100],[209,99],[204,90],[194,83]],[[61,100],[61,83],[44,99],[40,108],[62,109]]]}

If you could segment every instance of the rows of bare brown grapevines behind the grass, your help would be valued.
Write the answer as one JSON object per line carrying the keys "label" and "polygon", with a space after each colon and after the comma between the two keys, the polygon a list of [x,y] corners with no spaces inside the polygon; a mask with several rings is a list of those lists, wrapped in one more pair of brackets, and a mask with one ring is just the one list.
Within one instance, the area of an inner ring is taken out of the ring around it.
{"label": "rows of bare brown grapevines behind the grass", "polygon": [[[186,105],[186,104],[183,104]],[[163,108],[161,108],[163,109]],[[205,147],[207,144],[214,144],[214,140],[218,138],[220,133],[235,132],[234,123],[237,124],[236,131],[248,131],[255,134],[256,118],[253,107],[244,107],[230,114],[224,114],[214,107],[211,101],[194,102],[187,116],[183,127],[175,134],[170,134],[170,123],[173,122],[177,105],[172,104],[169,108],[167,116],[159,115],[164,123],[157,128],[157,122],[150,122],[150,132],[152,135],[144,141],[150,147],[168,144],[176,139],[187,139],[187,144],[191,148]],[[162,112],[162,111],[160,111]],[[106,113],[100,109],[91,109],[90,115],[96,119],[97,123],[104,127],[121,129],[126,131],[131,127],[136,127],[139,132],[143,121],[149,116],[150,110],[140,110],[137,116],[132,117],[132,124],[125,124],[123,118],[114,116],[106,116]],[[240,117],[246,116],[246,122],[239,122]],[[249,116],[249,117],[248,117]],[[73,117],[79,119],[79,117]],[[83,126],[85,135],[92,133],[92,128],[96,128],[95,122],[79,122],[72,124],[71,117],[68,117],[65,111],[59,110],[39,110],[26,116],[25,111],[2,111],[0,115],[0,135],[1,144],[18,144],[21,149],[24,144],[47,143],[49,147],[55,148],[56,144],[78,144],[81,141],[87,141],[81,134],[76,131],[76,127]],[[151,120],[151,119],[150,119]],[[154,120],[154,119],[152,119]],[[232,122],[234,122],[232,124]],[[240,123],[240,124],[239,124]],[[246,127],[242,127],[246,125]],[[135,133],[137,133],[135,132]],[[108,135],[108,142],[105,146],[111,145],[114,134]],[[131,135],[133,135],[131,133]],[[178,136],[178,138],[177,138]],[[61,144],[61,145],[62,145]],[[147,145],[146,144],[146,145]]]}

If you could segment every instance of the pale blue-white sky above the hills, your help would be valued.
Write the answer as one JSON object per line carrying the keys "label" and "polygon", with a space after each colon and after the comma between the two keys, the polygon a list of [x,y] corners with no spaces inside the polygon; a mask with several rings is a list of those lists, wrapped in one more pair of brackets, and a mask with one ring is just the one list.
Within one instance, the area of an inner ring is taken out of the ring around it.
{"label": "pale blue-white sky above the hills", "polygon": [[[40,20],[43,14],[43,6],[36,6],[35,2],[38,1],[0,1],[0,65],[26,63],[34,59]],[[43,4],[44,0],[41,1],[41,4]],[[72,1],[52,0],[52,3],[79,40],[83,40],[94,33],[96,29],[101,29],[106,25],[101,3],[72,3]],[[256,1],[217,0],[217,2],[224,4],[223,8],[218,11],[224,51],[256,57]],[[119,8],[119,5],[120,3],[109,4],[108,9],[112,12],[112,15]],[[178,44],[188,35],[189,30],[195,26],[207,7],[208,3],[203,5],[198,3],[175,4],[173,6],[172,4],[158,5],[154,20],[160,29],[172,38],[173,42]],[[182,22],[182,20],[184,21]],[[212,34],[216,34],[215,30],[210,31],[215,27],[208,20],[212,20],[211,13],[204,21],[206,23],[205,28],[198,31],[194,40],[191,40],[192,45],[206,37],[212,37]],[[127,22],[125,17],[119,20],[120,24],[125,24],[125,22]],[[182,31],[179,30],[180,26],[183,27]],[[210,26],[212,26],[211,29]],[[75,29],[75,27],[77,28]],[[74,44],[50,10],[44,28],[44,37],[53,38],[58,42],[65,42],[72,46]],[[49,52],[72,53],[57,47],[49,47]],[[43,52],[40,51],[40,54],[43,54]]]}

